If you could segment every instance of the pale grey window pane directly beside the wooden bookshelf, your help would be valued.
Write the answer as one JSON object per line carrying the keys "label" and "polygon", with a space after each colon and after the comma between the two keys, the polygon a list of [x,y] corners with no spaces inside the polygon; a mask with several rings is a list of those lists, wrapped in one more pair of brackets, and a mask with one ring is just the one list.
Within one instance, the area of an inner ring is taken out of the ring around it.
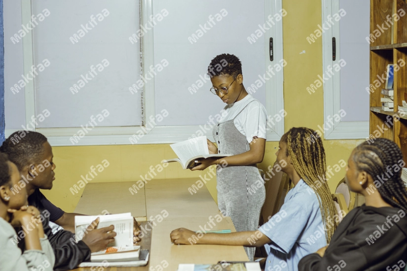
{"label": "pale grey window pane directly beside the wooden bookshelf", "polygon": [[346,62],[340,70],[340,108],[346,112],[341,120],[369,121],[370,0],[340,0],[339,5],[346,11],[339,21],[340,58]]}

